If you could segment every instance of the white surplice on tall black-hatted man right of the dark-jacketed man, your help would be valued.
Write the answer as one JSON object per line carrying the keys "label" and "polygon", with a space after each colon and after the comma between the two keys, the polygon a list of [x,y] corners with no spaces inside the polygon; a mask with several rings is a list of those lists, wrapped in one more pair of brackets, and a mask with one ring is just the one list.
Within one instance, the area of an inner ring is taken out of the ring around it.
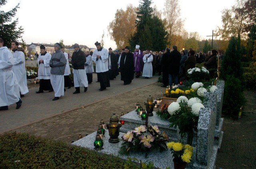
{"label": "white surplice on tall black-hatted man right of the dark-jacketed man", "polygon": [[[98,60],[96,55],[100,55],[100,58],[98,58]],[[108,50],[102,48],[101,51],[98,51],[96,49],[92,54],[92,61],[96,63],[96,73],[108,71]]]}

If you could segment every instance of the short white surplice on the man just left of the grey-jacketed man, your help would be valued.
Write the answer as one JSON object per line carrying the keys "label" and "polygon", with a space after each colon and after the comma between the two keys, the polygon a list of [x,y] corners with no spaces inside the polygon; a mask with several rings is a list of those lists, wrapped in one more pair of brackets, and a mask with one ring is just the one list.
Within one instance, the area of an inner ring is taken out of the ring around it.
{"label": "short white surplice on the man just left of the grey-jacketed man", "polygon": [[[45,55],[39,54],[37,59],[38,64],[38,79],[50,79],[51,76],[51,67],[49,66],[50,59],[52,55],[50,53],[46,53]],[[40,63],[39,61],[43,60],[44,63]]]}

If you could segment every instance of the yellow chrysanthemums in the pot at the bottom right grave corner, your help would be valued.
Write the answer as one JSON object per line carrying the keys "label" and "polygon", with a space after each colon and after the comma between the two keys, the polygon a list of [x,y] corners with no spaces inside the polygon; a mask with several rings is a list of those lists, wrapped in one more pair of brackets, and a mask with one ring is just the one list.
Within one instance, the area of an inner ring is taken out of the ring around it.
{"label": "yellow chrysanthemums in the pot at the bottom right grave corner", "polygon": [[190,163],[193,147],[191,145],[184,145],[182,143],[168,142],[166,143],[168,149],[172,152],[172,157],[174,161],[179,161],[183,163]]}

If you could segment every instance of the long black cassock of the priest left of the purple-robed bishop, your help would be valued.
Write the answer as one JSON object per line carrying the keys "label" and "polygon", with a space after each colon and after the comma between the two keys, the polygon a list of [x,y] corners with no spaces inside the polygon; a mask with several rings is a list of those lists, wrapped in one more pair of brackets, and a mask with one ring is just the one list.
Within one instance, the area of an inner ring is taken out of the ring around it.
{"label": "long black cassock of the priest left of the purple-robed bishop", "polygon": [[134,59],[133,54],[122,53],[120,58],[120,73],[121,73],[121,81],[124,83],[132,83],[132,79],[134,78]]}

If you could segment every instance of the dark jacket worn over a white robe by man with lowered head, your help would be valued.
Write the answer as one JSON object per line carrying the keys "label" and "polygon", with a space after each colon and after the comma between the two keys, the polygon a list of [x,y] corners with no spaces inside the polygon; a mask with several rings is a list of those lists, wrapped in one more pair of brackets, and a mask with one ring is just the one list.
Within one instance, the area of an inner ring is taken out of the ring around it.
{"label": "dark jacket worn over a white robe by man with lowered head", "polygon": [[80,49],[72,53],[71,64],[73,69],[84,69],[84,63],[86,62],[86,55]]}

